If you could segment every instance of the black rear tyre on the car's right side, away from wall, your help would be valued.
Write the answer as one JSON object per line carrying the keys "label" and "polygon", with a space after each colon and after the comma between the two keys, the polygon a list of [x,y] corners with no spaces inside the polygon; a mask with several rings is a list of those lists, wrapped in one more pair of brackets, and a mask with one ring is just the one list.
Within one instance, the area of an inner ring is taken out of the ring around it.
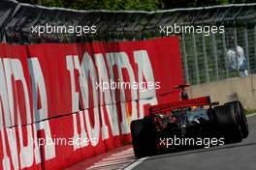
{"label": "black rear tyre on the car's right side, away from wall", "polygon": [[236,118],[236,108],[233,105],[214,107],[218,135],[224,137],[225,143],[240,142],[242,133]]}

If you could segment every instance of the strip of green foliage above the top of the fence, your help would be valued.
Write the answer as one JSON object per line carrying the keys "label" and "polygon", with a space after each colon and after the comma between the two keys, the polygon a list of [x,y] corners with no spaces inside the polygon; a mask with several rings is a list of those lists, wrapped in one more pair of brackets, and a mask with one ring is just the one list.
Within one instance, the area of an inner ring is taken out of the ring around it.
{"label": "strip of green foliage above the top of the fence", "polygon": [[162,9],[252,3],[255,0],[18,0],[18,2],[76,10],[156,11]]}

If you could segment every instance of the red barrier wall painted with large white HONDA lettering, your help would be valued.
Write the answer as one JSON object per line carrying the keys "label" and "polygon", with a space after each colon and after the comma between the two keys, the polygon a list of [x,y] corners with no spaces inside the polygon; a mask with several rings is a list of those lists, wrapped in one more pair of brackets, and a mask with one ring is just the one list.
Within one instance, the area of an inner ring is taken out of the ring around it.
{"label": "red barrier wall painted with large white HONDA lettering", "polygon": [[131,142],[130,122],[178,99],[182,77],[175,37],[0,44],[1,169],[61,169]]}

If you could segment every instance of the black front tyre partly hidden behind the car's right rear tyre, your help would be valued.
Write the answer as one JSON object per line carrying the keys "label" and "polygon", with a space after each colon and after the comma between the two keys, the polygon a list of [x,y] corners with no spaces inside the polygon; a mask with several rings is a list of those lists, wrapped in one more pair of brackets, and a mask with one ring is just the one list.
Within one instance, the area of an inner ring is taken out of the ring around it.
{"label": "black front tyre partly hidden behind the car's right rear tyre", "polygon": [[249,134],[249,128],[248,128],[247,119],[246,119],[242,104],[240,103],[239,100],[235,100],[235,101],[227,102],[225,103],[225,105],[232,105],[233,107],[235,107],[235,113],[237,115],[237,120],[240,124],[242,137],[246,138]]}

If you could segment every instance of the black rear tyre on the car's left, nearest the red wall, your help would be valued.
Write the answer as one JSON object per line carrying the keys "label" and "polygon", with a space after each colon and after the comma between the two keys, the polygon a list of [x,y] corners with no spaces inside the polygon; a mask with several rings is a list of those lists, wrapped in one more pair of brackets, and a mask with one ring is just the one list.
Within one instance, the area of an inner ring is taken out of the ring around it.
{"label": "black rear tyre on the car's left, nearest the red wall", "polygon": [[151,117],[135,120],[131,123],[134,154],[137,158],[155,154],[155,140]]}

